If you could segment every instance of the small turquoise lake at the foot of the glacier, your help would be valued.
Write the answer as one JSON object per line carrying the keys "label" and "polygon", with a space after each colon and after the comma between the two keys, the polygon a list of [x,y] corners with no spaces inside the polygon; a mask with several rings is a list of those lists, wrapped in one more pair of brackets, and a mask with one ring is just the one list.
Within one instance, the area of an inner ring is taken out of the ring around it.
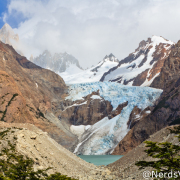
{"label": "small turquoise lake at the foot of the glacier", "polygon": [[106,166],[108,164],[117,161],[122,156],[121,155],[78,155],[78,157],[97,166],[101,166],[101,165]]}

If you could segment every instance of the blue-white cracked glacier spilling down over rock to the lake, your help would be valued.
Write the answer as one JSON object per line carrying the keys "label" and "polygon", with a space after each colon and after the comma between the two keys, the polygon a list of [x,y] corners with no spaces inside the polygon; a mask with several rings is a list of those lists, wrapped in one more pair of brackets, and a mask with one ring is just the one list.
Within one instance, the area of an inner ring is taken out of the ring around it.
{"label": "blue-white cracked glacier spilling down over rock to the lake", "polygon": [[[98,91],[102,98],[111,102],[115,110],[119,104],[128,101],[121,113],[112,119],[103,118],[86,129],[74,153],[83,155],[110,154],[117,144],[128,133],[127,122],[135,106],[145,109],[153,106],[162,93],[161,89],[139,86],[125,86],[116,82],[94,82],[69,85],[69,96],[72,101]],[[148,112],[149,113],[149,112]]]}

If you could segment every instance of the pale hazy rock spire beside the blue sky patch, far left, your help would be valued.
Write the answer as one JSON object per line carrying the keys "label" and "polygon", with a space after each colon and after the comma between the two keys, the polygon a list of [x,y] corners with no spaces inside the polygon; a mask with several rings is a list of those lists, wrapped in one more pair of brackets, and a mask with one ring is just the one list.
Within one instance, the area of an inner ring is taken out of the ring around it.
{"label": "pale hazy rock spire beside the blue sky patch, far left", "polygon": [[11,26],[7,23],[0,29],[0,41],[5,44],[9,44],[14,47],[14,49],[21,55],[22,51],[19,48],[19,36],[15,34]]}

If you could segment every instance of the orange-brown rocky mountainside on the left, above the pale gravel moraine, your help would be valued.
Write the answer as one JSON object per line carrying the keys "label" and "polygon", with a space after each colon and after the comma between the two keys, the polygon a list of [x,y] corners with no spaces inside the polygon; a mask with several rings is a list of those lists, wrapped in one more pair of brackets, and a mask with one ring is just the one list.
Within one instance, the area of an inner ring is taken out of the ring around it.
{"label": "orange-brown rocky mountainside on the left, above the pale gravel moraine", "polygon": [[[55,116],[66,94],[63,79],[0,42],[0,120],[31,123],[70,148],[76,137]],[[59,104],[54,107],[54,103]]]}

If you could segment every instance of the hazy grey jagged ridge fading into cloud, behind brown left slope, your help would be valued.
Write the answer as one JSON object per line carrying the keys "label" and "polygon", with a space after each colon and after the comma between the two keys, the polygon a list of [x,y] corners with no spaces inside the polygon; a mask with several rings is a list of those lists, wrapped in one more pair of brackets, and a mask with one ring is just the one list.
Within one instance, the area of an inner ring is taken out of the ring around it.
{"label": "hazy grey jagged ridge fading into cloud, behind brown left slope", "polygon": [[55,53],[52,55],[48,50],[45,50],[38,57],[31,57],[30,60],[38,66],[50,69],[57,74],[68,71],[74,74],[82,71],[79,61],[68,53]]}

